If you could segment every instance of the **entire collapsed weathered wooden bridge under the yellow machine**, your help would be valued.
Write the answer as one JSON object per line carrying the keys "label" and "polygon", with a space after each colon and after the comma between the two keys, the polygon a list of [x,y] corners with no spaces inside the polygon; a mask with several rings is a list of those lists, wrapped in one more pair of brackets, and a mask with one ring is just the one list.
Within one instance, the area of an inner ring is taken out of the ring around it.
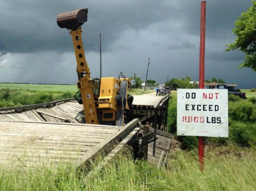
{"label": "entire collapsed weathered wooden bridge under the yellow machine", "polygon": [[[86,124],[83,106],[73,99],[0,108],[0,164],[72,163],[78,168],[104,150],[104,162],[97,167],[101,170],[128,144],[160,167],[172,139],[163,131],[168,101],[169,96],[134,96],[134,119],[124,127]],[[106,152],[110,145],[113,149]]]}

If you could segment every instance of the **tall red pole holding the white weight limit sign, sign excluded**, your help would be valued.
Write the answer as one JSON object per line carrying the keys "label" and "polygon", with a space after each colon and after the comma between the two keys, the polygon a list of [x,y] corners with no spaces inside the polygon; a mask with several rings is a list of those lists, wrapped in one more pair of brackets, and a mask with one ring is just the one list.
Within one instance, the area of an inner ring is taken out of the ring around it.
{"label": "tall red pole holding the white weight limit sign, sign excluded", "polygon": [[[204,89],[205,81],[205,9],[206,2],[202,1],[200,26],[199,89]],[[204,137],[198,137],[198,162],[200,170],[203,170],[203,141]]]}

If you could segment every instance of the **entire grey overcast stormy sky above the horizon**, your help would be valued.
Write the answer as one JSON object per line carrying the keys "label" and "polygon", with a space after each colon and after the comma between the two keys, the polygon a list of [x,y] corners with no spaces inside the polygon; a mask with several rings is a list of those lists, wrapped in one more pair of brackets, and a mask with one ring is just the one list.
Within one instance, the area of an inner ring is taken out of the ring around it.
{"label": "entire grey overcast stormy sky above the horizon", "polygon": [[[0,82],[75,84],[72,38],[59,28],[59,13],[88,8],[82,40],[91,77],[120,71],[162,84],[191,76],[198,81],[201,0],[0,0]],[[244,54],[225,52],[234,21],[251,0],[206,0],[205,79],[222,78],[255,88],[256,73],[239,69]]]}

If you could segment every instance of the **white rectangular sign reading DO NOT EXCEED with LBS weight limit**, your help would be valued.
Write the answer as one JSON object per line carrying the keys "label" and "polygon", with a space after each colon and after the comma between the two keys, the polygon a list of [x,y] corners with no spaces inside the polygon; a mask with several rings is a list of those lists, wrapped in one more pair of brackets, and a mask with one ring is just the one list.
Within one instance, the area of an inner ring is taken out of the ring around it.
{"label": "white rectangular sign reading DO NOT EXCEED with LBS weight limit", "polygon": [[178,89],[177,135],[228,137],[227,90]]}

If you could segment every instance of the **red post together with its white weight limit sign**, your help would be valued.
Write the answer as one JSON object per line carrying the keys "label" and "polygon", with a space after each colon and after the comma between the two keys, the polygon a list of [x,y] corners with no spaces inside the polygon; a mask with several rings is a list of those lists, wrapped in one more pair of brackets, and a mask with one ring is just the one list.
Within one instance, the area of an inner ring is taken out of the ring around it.
{"label": "red post together with its white weight limit sign", "polygon": [[203,170],[204,137],[228,137],[227,90],[204,89],[205,78],[205,11],[201,2],[199,89],[178,89],[177,135],[198,136],[199,169]]}

